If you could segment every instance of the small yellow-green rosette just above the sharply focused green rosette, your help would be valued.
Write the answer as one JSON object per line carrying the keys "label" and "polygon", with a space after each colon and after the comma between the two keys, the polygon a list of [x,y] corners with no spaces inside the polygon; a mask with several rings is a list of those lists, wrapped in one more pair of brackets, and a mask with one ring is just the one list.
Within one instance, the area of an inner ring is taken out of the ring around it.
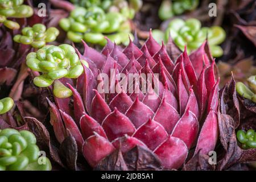
{"label": "small yellow-green rosette just above the sharply focused green rosette", "polygon": [[32,27],[22,29],[22,35],[14,36],[14,41],[26,45],[31,45],[34,48],[42,48],[46,43],[53,42],[59,35],[59,30],[55,27],[46,28],[44,24],[37,23]]}

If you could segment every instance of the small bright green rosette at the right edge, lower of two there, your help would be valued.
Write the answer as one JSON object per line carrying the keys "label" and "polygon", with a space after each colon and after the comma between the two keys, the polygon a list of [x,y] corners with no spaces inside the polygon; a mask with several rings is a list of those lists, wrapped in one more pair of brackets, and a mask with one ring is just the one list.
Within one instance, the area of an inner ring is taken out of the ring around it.
{"label": "small bright green rosette at the right edge, lower of two there", "polygon": [[256,134],[253,129],[237,131],[237,139],[243,149],[256,148]]}

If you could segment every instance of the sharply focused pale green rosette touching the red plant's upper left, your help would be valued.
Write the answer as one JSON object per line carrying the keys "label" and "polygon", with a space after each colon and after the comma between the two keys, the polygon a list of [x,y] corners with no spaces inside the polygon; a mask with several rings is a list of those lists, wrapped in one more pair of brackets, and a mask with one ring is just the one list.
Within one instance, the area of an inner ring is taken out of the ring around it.
{"label": "sharply focused pale green rosette touching the red plant's upper left", "polygon": [[68,44],[44,46],[37,52],[28,53],[26,59],[28,68],[43,73],[34,78],[34,84],[39,87],[50,86],[63,77],[77,78],[84,71],[75,49]]}

